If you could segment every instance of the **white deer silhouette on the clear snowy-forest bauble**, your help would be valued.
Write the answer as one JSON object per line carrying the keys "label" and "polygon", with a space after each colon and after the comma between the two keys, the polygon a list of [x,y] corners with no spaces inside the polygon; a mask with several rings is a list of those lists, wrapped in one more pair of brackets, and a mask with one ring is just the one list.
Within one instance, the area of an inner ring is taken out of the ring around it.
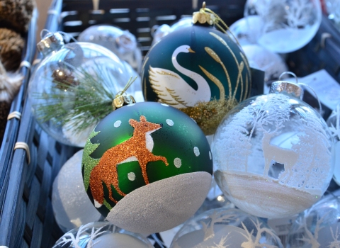
{"label": "white deer silhouette on the clear snowy-forest bauble", "polygon": [[290,174],[290,170],[294,166],[294,164],[297,162],[297,158],[299,157],[299,154],[295,152],[294,150],[285,149],[282,147],[278,147],[276,145],[271,145],[271,138],[274,135],[277,135],[278,128],[274,130],[273,132],[263,131],[263,138],[262,138],[262,150],[263,150],[263,157],[265,160],[265,166],[263,171],[263,176],[268,176],[269,168],[271,167],[271,160],[274,160],[277,163],[284,164],[285,168],[285,174],[288,176]]}

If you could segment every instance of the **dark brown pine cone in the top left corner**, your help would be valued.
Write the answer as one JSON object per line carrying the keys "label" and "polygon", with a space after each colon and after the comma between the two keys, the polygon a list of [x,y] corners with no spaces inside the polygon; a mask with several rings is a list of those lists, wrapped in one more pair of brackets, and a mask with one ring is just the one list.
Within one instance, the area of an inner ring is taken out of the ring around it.
{"label": "dark brown pine cone in the top left corner", "polygon": [[0,22],[18,33],[26,33],[34,7],[34,0],[0,0]]}

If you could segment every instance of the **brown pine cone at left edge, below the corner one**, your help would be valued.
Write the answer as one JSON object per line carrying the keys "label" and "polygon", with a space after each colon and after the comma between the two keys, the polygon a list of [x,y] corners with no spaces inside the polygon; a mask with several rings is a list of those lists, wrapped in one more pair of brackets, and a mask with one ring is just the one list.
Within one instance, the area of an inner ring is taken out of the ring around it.
{"label": "brown pine cone at left edge, below the corner one", "polygon": [[7,28],[0,28],[0,62],[6,71],[18,69],[25,42],[21,36]]}

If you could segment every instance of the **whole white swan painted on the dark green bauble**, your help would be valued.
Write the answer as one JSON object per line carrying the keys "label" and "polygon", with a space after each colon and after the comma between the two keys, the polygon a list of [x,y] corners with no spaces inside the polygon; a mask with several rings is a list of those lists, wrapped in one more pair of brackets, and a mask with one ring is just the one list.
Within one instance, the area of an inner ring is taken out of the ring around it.
{"label": "whole white swan painted on the dark green bauble", "polygon": [[196,82],[198,89],[193,89],[184,79],[169,69],[149,67],[149,81],[152,89],[158,95],[159,102],[169,104],[175,108],[195,106],[199,101],[208,102],[211,91],[208,82],[197,74],[181,67],[176,60],[180,52],[194,52],[188,45],[181,45],[174,50],[171,60],[174,67]]}

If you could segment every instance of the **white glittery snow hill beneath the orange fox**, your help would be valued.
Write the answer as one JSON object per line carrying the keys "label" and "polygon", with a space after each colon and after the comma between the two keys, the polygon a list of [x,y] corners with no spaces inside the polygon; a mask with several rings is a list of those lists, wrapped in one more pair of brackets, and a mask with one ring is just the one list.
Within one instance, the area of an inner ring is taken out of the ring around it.
{"label": "white glittery snow hill beneath the orange fox", "polygon": [[147,184],[120,200],[108,213],[107,220],[142,234],[169,230],[190,218],[193,209],[200,207],[211,180],[208,172],[199,171]]}

